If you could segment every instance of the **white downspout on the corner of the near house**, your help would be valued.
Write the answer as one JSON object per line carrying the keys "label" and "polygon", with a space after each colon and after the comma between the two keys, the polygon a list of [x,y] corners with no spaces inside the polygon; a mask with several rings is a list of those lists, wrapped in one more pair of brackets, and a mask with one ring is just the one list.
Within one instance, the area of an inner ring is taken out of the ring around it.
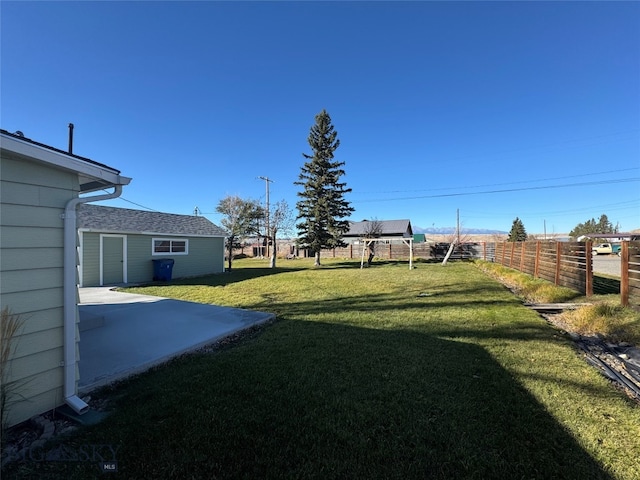
{"label": "white downspout on the corner of the near house", "polygon": [[94,197],[74,198],[64,209],[64,401],[76,413],[89,409],[76,394],[76,326],[78,315],[77,248],[78,229],[76,207],[81,203],[97,202],[117,198],[122,194],[122,185],[114,185],[113,193]]}

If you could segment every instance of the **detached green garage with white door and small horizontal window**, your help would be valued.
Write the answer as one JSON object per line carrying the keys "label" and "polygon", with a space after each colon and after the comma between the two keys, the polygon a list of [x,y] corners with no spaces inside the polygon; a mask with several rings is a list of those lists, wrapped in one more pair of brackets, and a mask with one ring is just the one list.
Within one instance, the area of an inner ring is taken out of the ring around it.
{"label": "detached green garage with white door and small horizontal window", "polygon": [[226,232],[201,216],[85,204],[78,231],[81,287],[151,282],[154,260],[172,278],[224,272]]}

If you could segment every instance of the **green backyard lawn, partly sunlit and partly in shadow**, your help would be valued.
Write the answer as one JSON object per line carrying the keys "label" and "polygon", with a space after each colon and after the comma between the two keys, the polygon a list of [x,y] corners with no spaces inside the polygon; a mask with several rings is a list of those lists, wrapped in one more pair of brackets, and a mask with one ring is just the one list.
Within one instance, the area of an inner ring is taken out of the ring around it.
{"label": "green backyard lawn, partly sunlit and partly in shadow", "polygon": [[638,478],[638,405],[473,264],[266,262],[131,289],[277,321],[97,392],[113,413],[62,445],[117,448],[126,479]]}

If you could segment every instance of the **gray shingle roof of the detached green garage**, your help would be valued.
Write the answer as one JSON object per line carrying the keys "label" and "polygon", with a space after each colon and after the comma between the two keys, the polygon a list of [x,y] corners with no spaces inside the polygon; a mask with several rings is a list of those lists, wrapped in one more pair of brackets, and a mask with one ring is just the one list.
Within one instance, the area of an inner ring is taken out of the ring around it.
{"label": "gray shingle roof of the detached green garage", "polygon": [[78,228],[118,233],[147,233],[226,237],[227,233],[205,217],[146,212],[88,203],[78,206]]}

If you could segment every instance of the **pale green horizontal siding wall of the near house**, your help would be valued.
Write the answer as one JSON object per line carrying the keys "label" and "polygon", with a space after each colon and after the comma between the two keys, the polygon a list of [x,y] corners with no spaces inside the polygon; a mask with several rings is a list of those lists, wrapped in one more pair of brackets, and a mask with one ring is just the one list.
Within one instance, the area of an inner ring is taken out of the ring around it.
{"label": "pale green horizontal siding wall of the near house", "polygon": [[10,365],[13,425],[63,403],[62,214],[79,186],[75,173],[4,151],[0,168],[0,304],[24,322]]}

